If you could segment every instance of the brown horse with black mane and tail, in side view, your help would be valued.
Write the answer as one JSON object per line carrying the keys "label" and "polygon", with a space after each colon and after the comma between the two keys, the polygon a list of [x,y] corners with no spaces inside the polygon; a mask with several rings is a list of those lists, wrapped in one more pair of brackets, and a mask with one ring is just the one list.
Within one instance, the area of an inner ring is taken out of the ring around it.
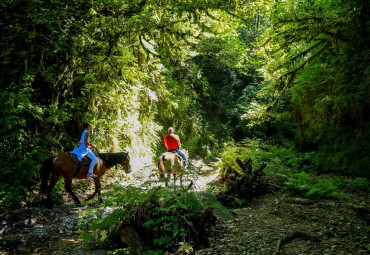
{"label": "brown horse with black mane and tail, in side view", "polygon": [[[94,174],[98,177],[94,178],[95,192],[87,199],[92,199],[96,194],[100,195],[100,178],[105,174],[107,170],[115,165],[121,165],[126,173],[131,172],[130,157],[128,153],[99,153],[100,157],[98,163],[95,165]],[[50,199],[51,191],[54,186],[58,183],[60,177],[65,180],[65,189],[72,196],[76,204],[80,203],[80,200],[72,191],[72,179],[86,179],[88,166],[79,167],[71,159],[68,152],[63,152],[56,157],[50,157],[46,159],[40,169],[41,178],[41,194],[47,194],[47,203],[52,206]],[[48,185],[48,181],[50,183]],[[100,199],[100,201],[102,201]]]}

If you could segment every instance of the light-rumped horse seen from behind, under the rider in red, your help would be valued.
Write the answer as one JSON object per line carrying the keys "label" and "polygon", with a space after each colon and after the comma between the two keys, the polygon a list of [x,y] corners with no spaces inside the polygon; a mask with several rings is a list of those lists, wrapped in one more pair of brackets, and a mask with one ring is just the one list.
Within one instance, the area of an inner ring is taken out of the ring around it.
{"label": "light-rumped horse seen from behind, under the rider in red", "polygon": [[[188,157],[188,152],[186,150],[182,150],[186,157]],[[165,162],[171,163],[171,169],[166,169]],[[184,168],[184,160],[183,158],[178,155],[176,152],[168,151],[164,152],[159,156],[158,159],[158,170],[160,172],[160,178],[165,177],[165,173],[167,172],[167,179],[165,180],[166,187],[168,185],[168,180],[170,178],[171,172],[174,176],[176,174],[181,173],[181,170]],[[180,176],[180,182],[182,182],[181,176]]]}

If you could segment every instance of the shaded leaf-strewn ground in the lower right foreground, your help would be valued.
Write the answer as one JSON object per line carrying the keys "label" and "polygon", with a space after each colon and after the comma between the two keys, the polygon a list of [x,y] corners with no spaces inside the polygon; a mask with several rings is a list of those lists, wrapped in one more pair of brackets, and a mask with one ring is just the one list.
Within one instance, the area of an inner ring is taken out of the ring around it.
{"label": "shaded leaf-strewn ground in the lower right foreground", "polygon": [[370,254],[369,196],[312,201],[279,193],[234,209],[198,254]]}

